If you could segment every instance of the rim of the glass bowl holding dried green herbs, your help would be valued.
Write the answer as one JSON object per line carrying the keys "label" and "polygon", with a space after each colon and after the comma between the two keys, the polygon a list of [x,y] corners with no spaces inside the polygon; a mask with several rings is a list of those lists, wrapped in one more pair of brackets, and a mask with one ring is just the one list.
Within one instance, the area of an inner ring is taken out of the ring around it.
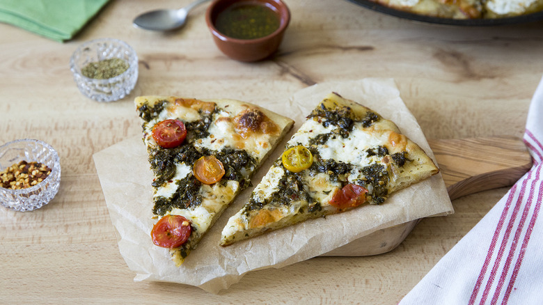
{"label": "rim of the glass bowl holding dried green herbs", "polygon": [[[110,77],[109,79],[93,79],[91,77],[86,77],[85,75],[81,73],[81,68],[79,68],[79,66],[75,63],[75,56],[76,54],[81,53],[84,48],[89,47],[91,45],[95,45],[99,42],[116,42],[120,45],[123,45],[123,47],[128,49],[130,54],[134,56],[134,62],[129,62],[128,69],[125,72],[121,73],[120,75]],[[134,50],[134,48],[130,47],[130,45],[127,44],[127,42],[117,39],[117,38],[97,38],[97,39],[84,42],[81,45],[79,45],[77,49],[75,49],[75,51],[72,53],[72,56],[70,56],[70,70],[72,70],[72,73],[74,75],[77,75],[78,77],[81,77],[82,79],[85,79],[86,81],[93,81],[96,84],[106,85],[106,84],[116,83],[124,79],[126,75],[132,75],[134,72],[136,72],[138,68],[138,62],[139,62],[138,54],[136,54],[136,51]]]}

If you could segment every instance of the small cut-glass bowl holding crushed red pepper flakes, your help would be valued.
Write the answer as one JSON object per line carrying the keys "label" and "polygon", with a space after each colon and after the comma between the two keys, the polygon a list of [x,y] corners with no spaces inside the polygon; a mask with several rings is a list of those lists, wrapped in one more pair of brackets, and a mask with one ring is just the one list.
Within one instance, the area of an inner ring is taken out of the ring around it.
{"label": "small cut-glass bowl holding crushed red pepper flakes", "polygon": [[39,140],[20,139],[0,146],[0,171],[22,160],[45,164],[51,173],[42,182],[26,189],[0,187],[0,204],[16,211],[31,211],[49,203],[58,192],[61,163],[54,148]]}

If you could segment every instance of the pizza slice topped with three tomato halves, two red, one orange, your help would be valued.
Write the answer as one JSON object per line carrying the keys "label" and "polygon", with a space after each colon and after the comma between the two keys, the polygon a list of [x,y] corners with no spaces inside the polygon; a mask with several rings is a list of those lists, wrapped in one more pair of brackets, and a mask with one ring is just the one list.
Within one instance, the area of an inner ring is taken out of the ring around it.
{"label": "pizza slice topped with three tomato halves, two red, one orange", "polygon": [[180,266],[293,121],[237,100],[141,96],[134,103],[154,174],[152,241]]}

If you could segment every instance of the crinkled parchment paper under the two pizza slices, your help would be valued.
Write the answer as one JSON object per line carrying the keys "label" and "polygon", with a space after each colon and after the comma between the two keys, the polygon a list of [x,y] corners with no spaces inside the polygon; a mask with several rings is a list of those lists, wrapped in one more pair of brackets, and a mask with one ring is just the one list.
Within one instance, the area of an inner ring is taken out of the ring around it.
{"label": "crinkled parchment paper under the two pizza slices", "polygon": [[[332,91],[393,120],[404,134],[433,158],[423,132],[402,102],[393,79],[317,84],[304,88],[289,100],[261,104],[294,119],[296,123],[283,143],[255,174],[253,185],[260,182],[274,159],[283,152],[284,143],[304,123],[310,111]],[[246,102],[258,104],[258,101]],[[135,110],[134,120],[139,120]],[[120,253],[128,267],[137,274],[134,281],[184,283],[217,293],[239,281],[251,270],[284,267],[327,253],[381,228],[453,212],[439,174],[398,191],[382,205],[364,205],[349,212],[306,221],[229,247],[220,247],[221,230],[228,218],[246,203],[252,191],[252,187],[249,187],[239,194],[184,264],[175,267],[168,249],[156,247],[150,239],[153,225],[152,172],[141,137],[117,143],[93,157],[111,221],[118,232]]]}

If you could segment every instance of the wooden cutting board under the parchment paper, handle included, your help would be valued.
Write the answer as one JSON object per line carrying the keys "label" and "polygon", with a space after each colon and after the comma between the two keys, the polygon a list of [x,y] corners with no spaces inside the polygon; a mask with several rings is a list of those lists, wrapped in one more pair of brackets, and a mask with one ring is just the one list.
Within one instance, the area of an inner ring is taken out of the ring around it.
{"label": "wooden cutting board under the parchment paper, handle included", "polygon": [[[517,182],[532,167],[521,139],[492,138],[429,140],[450,200]],[[377,230],[322,256],[371,256],[398,247],[420,219]]]}

